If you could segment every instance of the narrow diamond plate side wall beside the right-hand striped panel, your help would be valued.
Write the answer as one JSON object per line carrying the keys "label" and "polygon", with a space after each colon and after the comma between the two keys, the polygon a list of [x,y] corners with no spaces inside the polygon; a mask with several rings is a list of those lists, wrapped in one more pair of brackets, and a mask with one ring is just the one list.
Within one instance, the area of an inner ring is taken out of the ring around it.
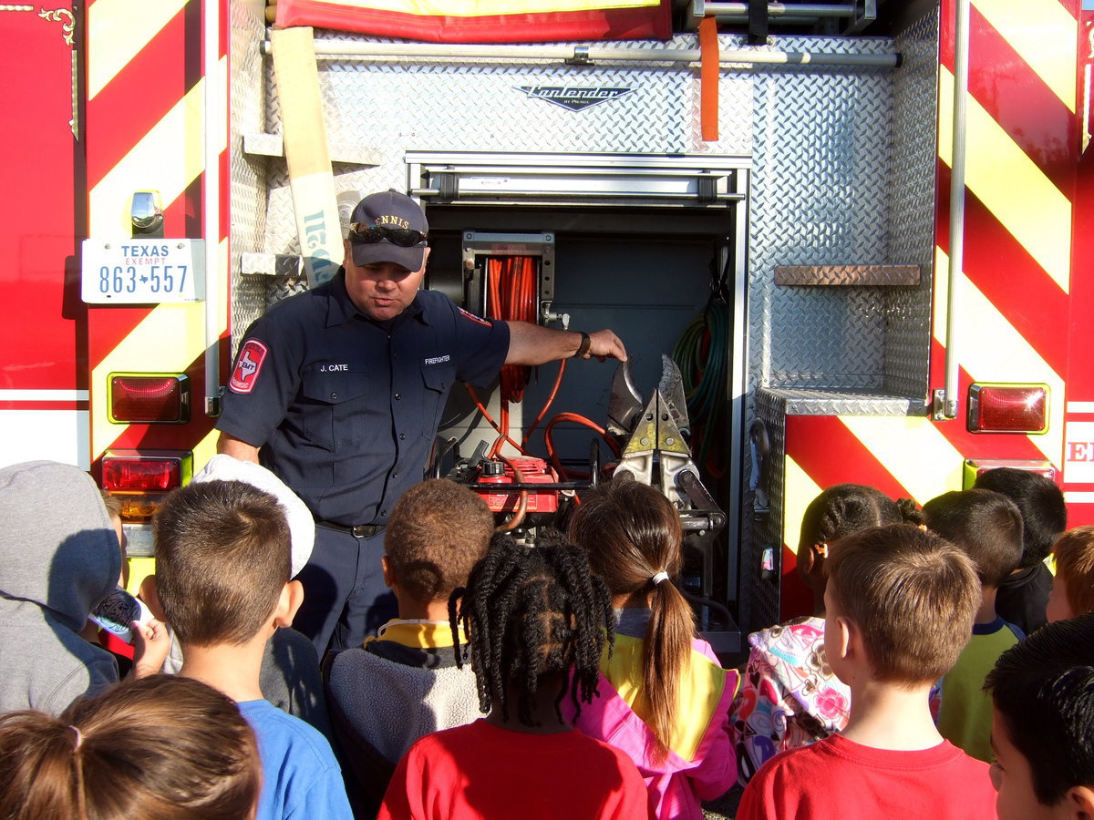
{"label": "narrow diamond plate side wall beside the right-hand striped panel", "polygon": [[920,266],[923,277],[915,289],[886,294],[884,383],[913,397],[926,397],[929,383],[938,39],[935,9],[896,40],[904,62],[894,75],[889,259]]}

